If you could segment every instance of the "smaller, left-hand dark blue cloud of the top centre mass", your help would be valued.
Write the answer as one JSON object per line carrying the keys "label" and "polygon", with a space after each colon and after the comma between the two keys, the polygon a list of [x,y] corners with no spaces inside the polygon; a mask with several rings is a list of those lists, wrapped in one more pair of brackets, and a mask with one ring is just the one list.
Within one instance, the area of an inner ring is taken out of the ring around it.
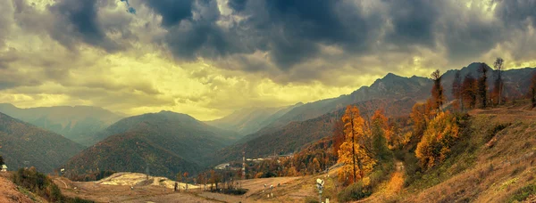
{"label": "smaller, left-hand dark blue cloud of the top centre mass", "polygon": [[[162,15],[162,25],[168,30],[163,41],[177,58],[186,61],[195,61],[197,57],[217,59],[240,52],[238,38],[216,24],[221,16],[215,0],[147,1],[146,4]],[[193,19],[193,12],[197,13],[196,19]]]}

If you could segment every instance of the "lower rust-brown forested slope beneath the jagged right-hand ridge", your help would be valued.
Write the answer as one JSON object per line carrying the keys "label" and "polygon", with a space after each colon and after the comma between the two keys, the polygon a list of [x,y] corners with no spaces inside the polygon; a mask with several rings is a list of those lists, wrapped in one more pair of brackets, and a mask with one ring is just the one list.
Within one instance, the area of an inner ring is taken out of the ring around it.
{"label": "lower rust-brown forested slope beneath the jagged right-hand ridge", "polygon": [[[371,100],[357,102],[356,105],[364,118],[373,116],[375,110],[384,110],[388,117],[400,117],[408,115],[416,101],[413,98],[401,100]],[[333,125],[344,114],[345,108],[335,110],[317,118],[305,121],[293,121],[287,126],[267,134],[247,137],[236,144],[224,148],[218,152],[214,164],[230,160],[237,160],[242,156],[242,150],[246,150],[247,158],[261,158],[278,154],[287,154],[304,149],[308,144],[331,136]]]}

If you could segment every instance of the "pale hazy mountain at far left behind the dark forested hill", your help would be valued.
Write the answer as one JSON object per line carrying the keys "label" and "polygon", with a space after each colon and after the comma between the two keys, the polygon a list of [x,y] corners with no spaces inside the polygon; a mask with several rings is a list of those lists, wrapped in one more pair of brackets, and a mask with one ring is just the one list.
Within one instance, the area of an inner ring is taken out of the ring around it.
{"label": "pale hazy mountain at far left behind the dark forested hill", "polygon": [[0,112],[62,134],[71,141],[91,145],[92,136],[121,119],[112,111],[92,106],[55,106],[21,109],[0,103]]}

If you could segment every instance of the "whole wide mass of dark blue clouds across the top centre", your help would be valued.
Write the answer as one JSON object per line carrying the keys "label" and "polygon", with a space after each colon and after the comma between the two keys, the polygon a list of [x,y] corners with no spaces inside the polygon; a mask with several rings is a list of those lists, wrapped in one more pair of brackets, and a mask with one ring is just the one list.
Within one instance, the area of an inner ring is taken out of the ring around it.
{"label": "whole wide mass of dark blue clouds across the top centre", "polygon": [[[162,15],[169,31],[165,43],[177,58],[218,59],[259,50],[270,53],[283,70],[318,55],[321,44],[364,52],[381,25],[381,16],[364,17],[354,4],[343,1],[230,1],[233,12],[245,18],[240,21],[222,19],[216,1],[146,4]],[[192,13],[199,17],[194,19]],[[222,28],[217,20],[229,20],[230,27]]]}

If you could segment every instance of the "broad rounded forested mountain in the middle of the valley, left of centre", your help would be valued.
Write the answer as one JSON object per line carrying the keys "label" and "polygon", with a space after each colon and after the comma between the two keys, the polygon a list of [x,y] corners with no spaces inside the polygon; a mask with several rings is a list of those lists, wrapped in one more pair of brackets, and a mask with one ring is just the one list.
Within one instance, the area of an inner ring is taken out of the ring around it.
{"label": "broad rounded forested mountain in the middle of the valley, left of centre", "polygon": [[173,177],[207,166],[216,151],[235,142],[238,134],[208,126],[171,111],[123,118],[102,133],[103,141],[83,150],[64,165],[69,172],[115,170]]}

